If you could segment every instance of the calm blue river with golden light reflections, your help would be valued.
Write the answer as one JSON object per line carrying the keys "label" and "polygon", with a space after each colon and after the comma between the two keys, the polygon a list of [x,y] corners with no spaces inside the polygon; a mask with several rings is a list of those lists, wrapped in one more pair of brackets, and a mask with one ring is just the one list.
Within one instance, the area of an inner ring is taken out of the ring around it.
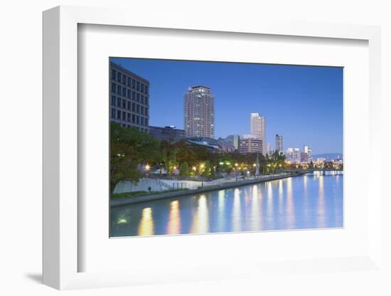
{"label": "calm blue river with golden light reflections", "polygon": [[111,236],[343,227],[343,175],[307,174],[111,209]]}

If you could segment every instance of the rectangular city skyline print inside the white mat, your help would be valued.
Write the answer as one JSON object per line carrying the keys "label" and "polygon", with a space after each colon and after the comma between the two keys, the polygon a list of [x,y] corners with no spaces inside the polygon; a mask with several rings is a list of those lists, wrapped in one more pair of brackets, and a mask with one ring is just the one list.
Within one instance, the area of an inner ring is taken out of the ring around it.
{"label": "rectangular city skyline print inside the white mat", "polygon": [[109,81],[110,236],[343,228],[342,67],[109,58]]}

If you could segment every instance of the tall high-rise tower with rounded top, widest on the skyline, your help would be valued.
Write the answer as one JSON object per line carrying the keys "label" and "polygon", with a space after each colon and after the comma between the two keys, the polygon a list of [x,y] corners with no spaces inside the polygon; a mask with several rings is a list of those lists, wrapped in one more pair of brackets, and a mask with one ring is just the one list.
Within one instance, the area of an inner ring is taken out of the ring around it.
{"label": "tall high-rise tower with rounded top, widest on the skyline", "polygon": [[215,97],[210,88],[188,88],[184,95],[183,127],[187,137],[215,137]]}

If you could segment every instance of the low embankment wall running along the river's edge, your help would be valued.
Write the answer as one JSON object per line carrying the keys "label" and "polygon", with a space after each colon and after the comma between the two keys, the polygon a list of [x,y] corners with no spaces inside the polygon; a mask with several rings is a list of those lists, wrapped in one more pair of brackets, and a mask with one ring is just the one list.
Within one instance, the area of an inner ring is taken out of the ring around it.
{"label": "low embankment wall running along the river's edge", "polygon": [[207,191],[215,191],[215,190],[221,190],[221,189],[228,189],[232,187],[239,187],[239,186],[245,186],[245,185],[251,185],[251,184],[258,184],[262,182],[267,181],[274,181],[278,179],[285,179],[290,178],[294,176],[302,176],[306,173],[289,173],[289,174],[282,174],[282,175],[274,175],[274,176],[268,176],[265,178],[259,178],[259,179],[250,179],[250,180],[241,180],[237,182],[230,182],[225,184],[219,184],[214,186],[204,186],[198,189],[191,189],[191,190],[179,190],[179,191],[171,191],[171,192],[162,192],[161,194],[151,194],[151,195],[143,195],[143,196],[131,196],[131,197],[125,197],[123,199],[114,199],[110,201],[110,206],[123,206],[125,204],[131,204],[131,203],[141,203],[144,201],[154,201],[157,199],[168,199],[171,197],[176,196],[188,196],[190,194],[200,194]]}

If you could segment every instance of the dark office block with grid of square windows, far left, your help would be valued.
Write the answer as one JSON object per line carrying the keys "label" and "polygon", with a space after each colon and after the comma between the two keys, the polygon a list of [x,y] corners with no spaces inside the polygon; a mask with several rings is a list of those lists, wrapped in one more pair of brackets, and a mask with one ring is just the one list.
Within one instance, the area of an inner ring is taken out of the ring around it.
{"label": "dark office block with grid of square windows, far left", "polygon": [[110,62],[110,120],[149,131],[149,81]]}

